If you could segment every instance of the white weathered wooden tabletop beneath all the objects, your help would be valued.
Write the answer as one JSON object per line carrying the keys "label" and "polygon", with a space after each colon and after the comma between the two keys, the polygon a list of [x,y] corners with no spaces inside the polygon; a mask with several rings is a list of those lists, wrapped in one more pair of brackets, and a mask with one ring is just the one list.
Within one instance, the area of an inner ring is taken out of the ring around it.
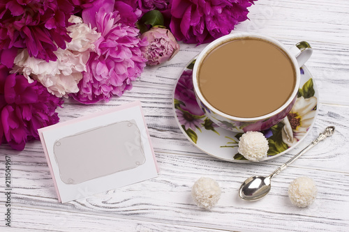
{"label": "white weathered wooden tabletop beneath all the objects", "polygon": [[[96,105],[66,100],[61,121],[141,100],[158,165],[158,178],[69,203],[59,203],[40,141],[21,151],[0,146],[0,231],[349,231],[349,2],[260,0],[236,31],[264,33],[285,45],[306,40],[314,52],[306,63],[318,86],[319,114],[309,135],[290,153],[267,162],[242,164],[202,153],[174,121],[172,91],[181,70],[205,45],[181,44],[177,56],[146,68],[131,91]],[[253,174],[267,175],[295,155],[327,125],[322,141],[273,179],[272,192],[246,202],[237,191]],[[5,156],[11,159],[11,228],[5,226]],[[96,157],[96,165],[103,160]],[[203,210],[191,199],[195,180],[218,181],[222,196]],[[309,176],[318,197],[309,208],[292,206],[288,185]]]}

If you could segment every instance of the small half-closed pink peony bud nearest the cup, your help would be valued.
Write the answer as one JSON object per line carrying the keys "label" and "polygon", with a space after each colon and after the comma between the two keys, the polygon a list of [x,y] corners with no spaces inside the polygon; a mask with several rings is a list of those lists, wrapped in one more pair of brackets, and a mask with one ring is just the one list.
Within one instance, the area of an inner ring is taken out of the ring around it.
{"label": "small half-closed pink peony bud nearest the cup", "polygon": [[158,65],[170,61],[179,52],[179,44],[168,29],[152,27],[142,33],[141,39],[149,42],[147,47],[142,47],[142,53],[147,59],[147,65]]}

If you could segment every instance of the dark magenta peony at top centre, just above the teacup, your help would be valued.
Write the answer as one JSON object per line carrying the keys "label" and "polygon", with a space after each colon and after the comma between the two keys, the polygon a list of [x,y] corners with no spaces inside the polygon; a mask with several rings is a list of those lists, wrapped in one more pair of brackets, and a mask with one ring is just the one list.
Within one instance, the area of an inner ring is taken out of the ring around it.
{"label": "dark magenta peony at top centre, just above the teacup", "polygon": [[247,8],[253,1],[172,0],[170,29],[177,40],[186,43],[211,42],[247,20]]}

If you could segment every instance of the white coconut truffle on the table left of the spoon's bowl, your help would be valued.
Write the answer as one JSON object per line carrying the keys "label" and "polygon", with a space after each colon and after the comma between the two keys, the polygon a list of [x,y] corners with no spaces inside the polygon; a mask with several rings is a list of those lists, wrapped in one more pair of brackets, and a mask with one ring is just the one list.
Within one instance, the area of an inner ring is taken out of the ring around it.
{"label": "white coconut truffle on the table left of the spoon's bowl", "polygon": [[196,180],[193,185],[191,196],[193,196],[197,206],[209,210],[216,206],[216,203],[221,198],[221,187],[219,187],[216,180],[202,177]]}

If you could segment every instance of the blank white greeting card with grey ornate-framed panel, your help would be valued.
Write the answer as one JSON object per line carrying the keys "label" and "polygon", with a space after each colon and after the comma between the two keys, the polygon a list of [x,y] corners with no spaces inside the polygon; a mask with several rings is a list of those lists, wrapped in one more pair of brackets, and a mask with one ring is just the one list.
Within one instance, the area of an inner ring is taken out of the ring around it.
{"label": "blank white greeting card with grey ornate-framed panel", "polygon": [[140,102],[38,131],[62,203],[157,176]]}

